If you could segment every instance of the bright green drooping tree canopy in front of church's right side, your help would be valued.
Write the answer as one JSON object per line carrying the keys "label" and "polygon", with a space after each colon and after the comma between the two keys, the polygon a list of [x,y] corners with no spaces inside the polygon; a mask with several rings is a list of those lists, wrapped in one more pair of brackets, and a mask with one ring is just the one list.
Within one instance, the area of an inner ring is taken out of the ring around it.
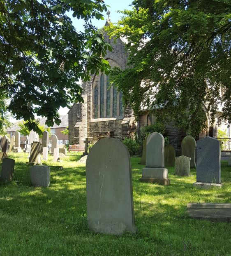
{"label": "bright green drooping tree canopy in front of church's right side", "polygon": [[[130,101],[162,109],[165,120],[197,135],[222,105],[219,122],[231,123],[230,0],[134,0],[133,9],[106,27],[126,37],[128,68],[114,70],[111,81]],[[222,94],[220,92],[222,91]]]}

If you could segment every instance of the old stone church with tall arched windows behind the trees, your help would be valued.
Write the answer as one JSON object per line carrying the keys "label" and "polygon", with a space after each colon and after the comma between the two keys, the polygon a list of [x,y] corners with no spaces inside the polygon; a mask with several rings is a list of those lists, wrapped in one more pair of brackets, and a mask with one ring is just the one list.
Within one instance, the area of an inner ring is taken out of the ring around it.
{"label": "old stone church with tall arched windows behind the trees", "polygon": [[[110,22],[110,18],[107,19]],[[106,22],[106,25],[107,25]],[[113,39],[104,36],[106,42],[113,47],[112,52],[107,52],[105,59],[109,61],[111,68],[119,67],[125,69],[127,54],[125,53],[124,38]],[[84,103],[75,103],[69,110],[69,144],[83,144],[83,140],[88,138],[91,143],[95,143],[103,137],[113,137],[124,139],[133,137],[134,132],[139,132],[141,126],[153,124],[155,118],[149,114],[148,110],[143,110],[138,121],[135,120],[132,108],[123,106],[122,93],[116,88],[108,89],[109,77],[105,74],[92,75],[90,82],[83,82]],[[219,112],[217,113],[217,117]],[[199,137],[217,137],[217,126],[208,124],[208,129],[201,132]],[[226,127],[227,128],[227,127]],[[183,129],[169,124],[166,127],[165,136],[169,136],[169,142],[176,149],[180,149],[181,141],[186,136]]]}

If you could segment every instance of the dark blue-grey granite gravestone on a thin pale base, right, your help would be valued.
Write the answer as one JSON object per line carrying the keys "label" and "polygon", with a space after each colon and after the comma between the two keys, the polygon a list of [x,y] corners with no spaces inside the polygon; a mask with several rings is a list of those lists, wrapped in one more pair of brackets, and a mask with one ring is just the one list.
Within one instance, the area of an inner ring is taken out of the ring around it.
{"label": "dark blue-grey granite gravestone on a thin pale base, right", "polygon": [[196,142],[196,182],[201,188],[221,187],[221,143],[205,137]]}

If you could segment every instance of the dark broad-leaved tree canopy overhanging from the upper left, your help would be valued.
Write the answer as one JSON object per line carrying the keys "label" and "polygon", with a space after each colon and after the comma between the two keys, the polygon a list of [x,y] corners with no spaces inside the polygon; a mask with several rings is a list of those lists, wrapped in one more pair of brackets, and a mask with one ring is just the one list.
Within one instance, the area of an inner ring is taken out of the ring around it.
{"label": "dark broad-leaved tree canopy overhanging from the upper left", "polygon": [[[8,109],[30,130],[41,133],[35,114],[59,124],[60,106],[83,101],[79,79],[109,72],[111,46],[91,23],[106,10],[102,0],[0,0],[0,99],[10,98]],[[69,11],[85,21],[83,32]]]}

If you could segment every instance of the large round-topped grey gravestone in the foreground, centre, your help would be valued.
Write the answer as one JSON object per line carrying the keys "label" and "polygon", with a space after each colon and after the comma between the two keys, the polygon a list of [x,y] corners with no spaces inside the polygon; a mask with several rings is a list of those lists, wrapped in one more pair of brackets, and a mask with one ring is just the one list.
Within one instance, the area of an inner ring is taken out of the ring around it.
{"label": "large round-topped grey gravestone in the foreground, centre", "polygon": [[136,233],[132,170],[127,148],[104,138],[91,148],[86,162],[88,227],[97,233]]}

